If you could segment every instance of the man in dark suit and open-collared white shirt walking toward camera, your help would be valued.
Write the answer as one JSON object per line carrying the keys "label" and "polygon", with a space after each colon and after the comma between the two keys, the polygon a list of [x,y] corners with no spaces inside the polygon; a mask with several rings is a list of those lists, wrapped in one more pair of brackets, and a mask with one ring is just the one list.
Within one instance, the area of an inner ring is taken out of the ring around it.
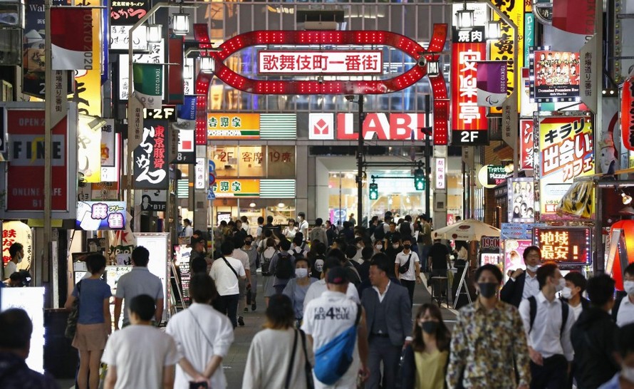
{"label": "man in dark suit and open-collared white shirt walking toward camera", "polygon": [[383,361],[383,388],[393,388],[405,337],[412,332],[412,311],[407,288],[390,281],[390,259],[376,254],[370,262],[372,289],[363,291],[370,354],[370,378],[365,388],[378,389]]}

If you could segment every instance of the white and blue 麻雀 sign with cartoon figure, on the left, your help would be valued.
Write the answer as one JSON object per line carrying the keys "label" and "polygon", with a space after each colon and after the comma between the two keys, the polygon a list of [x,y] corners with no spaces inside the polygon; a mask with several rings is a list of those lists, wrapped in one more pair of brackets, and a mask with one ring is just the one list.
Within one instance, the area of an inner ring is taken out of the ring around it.
{"label": "white and blue \u9ebb\u96c0 sign with cartoon figure, on the left", "polygon": [[125,202],[78,202],[76,227],[84,231],[125,228]]}

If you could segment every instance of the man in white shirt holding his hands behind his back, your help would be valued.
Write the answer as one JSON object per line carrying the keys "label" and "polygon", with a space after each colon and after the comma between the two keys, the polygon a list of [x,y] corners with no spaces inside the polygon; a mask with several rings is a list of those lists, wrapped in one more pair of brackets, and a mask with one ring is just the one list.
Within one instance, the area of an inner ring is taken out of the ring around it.
{"label": "man in white shirt holding his hands behind his back", "polygon": [[211,277],[194,274],[189,281],[189,296],[194,303],[167,323],[179,358],[175,388],[188,388],[190,381],[206,382],[209,388],[227,388],[222,359],[234,341],[234,328],[227,316],[210,305],[215,295]]}

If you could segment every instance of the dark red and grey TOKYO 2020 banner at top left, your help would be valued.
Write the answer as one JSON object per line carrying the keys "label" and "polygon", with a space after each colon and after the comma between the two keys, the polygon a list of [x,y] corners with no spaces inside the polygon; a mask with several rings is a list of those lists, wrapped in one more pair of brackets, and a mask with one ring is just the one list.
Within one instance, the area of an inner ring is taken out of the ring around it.
{"label": "dark red and grey TOKYO 2020 banner at top left", "polygon": [[54,71],[93,69],[93,10],[52,8],[51,46]]}

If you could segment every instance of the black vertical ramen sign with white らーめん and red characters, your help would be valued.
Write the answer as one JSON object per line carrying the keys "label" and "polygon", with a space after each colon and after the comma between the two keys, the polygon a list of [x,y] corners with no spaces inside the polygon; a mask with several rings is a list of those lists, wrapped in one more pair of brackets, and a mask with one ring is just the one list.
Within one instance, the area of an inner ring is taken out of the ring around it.
{"label": "black vertical ramen sign with white \u3089\u30fc\u3081\u3093 and red characters", "polygon": [[141,143],[134,149],[135,189],[167,189],[167,120],[145,120]]}

